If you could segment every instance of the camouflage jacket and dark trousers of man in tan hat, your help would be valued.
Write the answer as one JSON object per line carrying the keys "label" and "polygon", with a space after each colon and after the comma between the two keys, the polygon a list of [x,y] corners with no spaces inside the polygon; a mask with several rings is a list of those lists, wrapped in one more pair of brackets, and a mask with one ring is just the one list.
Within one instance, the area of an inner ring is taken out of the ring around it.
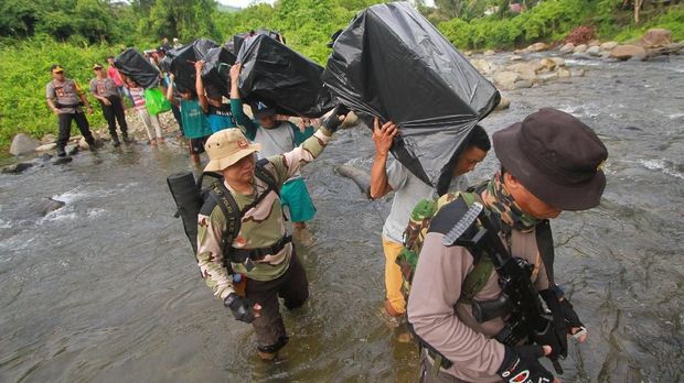
{"label": "camouflage jacket and dark trousers of man in tan hat", "polygon": [[[299,172],[302,165],[313,161],[330,141],[324,129],[304,141],[291,152],[268,157],[265,169],[277,180],[278,187]],[[268,188],[266,182],[255,177],[255,194],[244,195],[231,192],[238,209],[252,204],[256,195]],[[205,211],[203,211],[205,212]],[[209,215],[197,217],[197,262],[206,285],[222,300],[235,292],[233,276],[224,266],[222,238],[226,230],[226,217],[218,206]],[[286,234],[280,199],[276,192],[269,192],[264,199],[242,217],[238,236],[232,243],[235,249],[259,249],[271,247]],[[292,243],[285,244],[277,254],[268,254],[256,261],[254,269],[247,271],[244,264],[231,263],[234,273],[246,276],[247,298],[254,298],[261,306],[261,315],[253,322],[259,350],[275,352],[285,344],[287,337],[278,306],[278,295],[285,298],[288,308],[303,304],[308,297],[308,282],[303,267],[297,260]],[[274,350],[275,349],[275,350]]]}

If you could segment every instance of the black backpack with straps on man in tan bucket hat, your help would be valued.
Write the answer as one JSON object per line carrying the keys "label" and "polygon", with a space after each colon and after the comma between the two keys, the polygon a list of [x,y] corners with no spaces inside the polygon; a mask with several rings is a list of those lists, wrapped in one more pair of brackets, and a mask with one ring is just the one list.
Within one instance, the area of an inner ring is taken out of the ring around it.
{"label": "black backpack with straps on man in tan bucket hat", "polygon": [[[212,208],[218,205],[226,217],[223,249],[224,252],[227,252],[229,244],[233,243],[233,240],[239,233],[243,215],[260,203],[271,190],[279,194],[278,183],[274,175],[264,167],[266,164],[268,164],[266,158],[257,161],[254,174],[268,185],[267,189],[258,195],[254,203],[245,206],[242,210],[239,210],[235,198],[225,187],[223,176],[218,173],[205,172],[196,180],[192,172],[181,172],[167,177],[169,190],[171,190],[178,207],[173,217],[182,219],[185,236],[188,236],[194,254],[197,253],[197,215],[205,204],[212,204]],[[214,180],[211,182],[210,186],[205,187],[206,178],[213,178]]]}

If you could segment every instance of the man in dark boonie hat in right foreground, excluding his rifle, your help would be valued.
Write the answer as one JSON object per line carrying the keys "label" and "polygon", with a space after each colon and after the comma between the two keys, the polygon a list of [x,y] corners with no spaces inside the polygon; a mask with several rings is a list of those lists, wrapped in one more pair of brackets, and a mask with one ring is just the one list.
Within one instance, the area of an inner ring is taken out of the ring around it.
{"label": "man in dark boonie hat in right foreground, excluding his rifle", "polygon": [[[573,306],[555,294],[548,219],[563,210],[599,205],[606,186],[601,165],[608,152],[589,127],[549,108],[494,133],[493,141],[501,172],[470,197],[480,200],[491,221],[498,222],[511,255],[534,265],[531,282],[546,305],[562,308],[555,311],[562,320],[554,324],[563,326],[557,332],[563,336],[556,339],[565,341],[568,332],[584,341],[586,329]],[[509,318],[475,320],[473,303],[502,297],[502,291],[493,269],[480,275],[482,284],[473,289],[467,275],[479,267],[471,252],[442,244],[440,227],[452,228],[462,218],[462,210],[451,208],[460,199],[447,203],[450,199],[452,195],[440,199],[446,205],[431,220],[408,298],[408,321],[423,346],[420,380],[557,382],[537,359],[559,350],[545,344],[504,346],[498,339]]]}

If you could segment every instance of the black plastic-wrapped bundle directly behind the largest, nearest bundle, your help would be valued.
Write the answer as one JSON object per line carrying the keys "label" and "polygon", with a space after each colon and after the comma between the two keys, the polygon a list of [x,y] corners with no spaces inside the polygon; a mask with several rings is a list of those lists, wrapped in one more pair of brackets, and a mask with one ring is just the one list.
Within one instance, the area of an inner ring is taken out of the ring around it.
{"label": "black plastic-wrapped bundle directly behind the largest, nearest bundle", "polygon": [[241,96],[287,116],[321,117],[334,108],[323,87],[323,67],[265,34],[247,39],[237,55],[243,65]]}

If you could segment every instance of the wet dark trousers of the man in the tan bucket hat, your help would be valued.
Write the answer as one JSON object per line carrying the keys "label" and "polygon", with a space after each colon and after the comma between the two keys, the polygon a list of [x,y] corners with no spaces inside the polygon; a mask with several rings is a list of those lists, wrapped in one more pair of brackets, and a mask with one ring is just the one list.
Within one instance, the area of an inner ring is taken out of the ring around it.
{"label": "wet dark trousers of the man in the tan bucket hat", "polygon": [[285,274],[266,282],[248,278],[245,296],[261,306],[261,315],[252,322],[257,349],[261,352],[277,352],[288,341],[278,297],[284,299],[288,309],[300,307],[309,298],[307,273],[293,248],[290,266]]}

